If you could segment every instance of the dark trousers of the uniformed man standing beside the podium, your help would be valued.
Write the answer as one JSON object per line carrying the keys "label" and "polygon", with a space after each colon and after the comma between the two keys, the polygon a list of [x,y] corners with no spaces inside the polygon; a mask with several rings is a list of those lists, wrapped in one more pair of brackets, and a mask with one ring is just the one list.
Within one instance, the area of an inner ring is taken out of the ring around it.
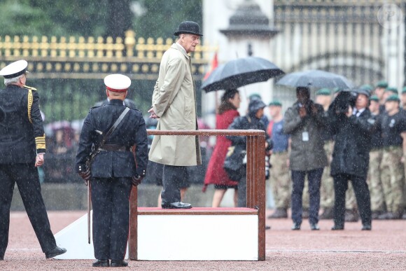
{"label": "dark trousers of the uniformed man standing beside the podium", "polygon": [[130,227],[131,178],[91,182],[94,258],[123,260]]}

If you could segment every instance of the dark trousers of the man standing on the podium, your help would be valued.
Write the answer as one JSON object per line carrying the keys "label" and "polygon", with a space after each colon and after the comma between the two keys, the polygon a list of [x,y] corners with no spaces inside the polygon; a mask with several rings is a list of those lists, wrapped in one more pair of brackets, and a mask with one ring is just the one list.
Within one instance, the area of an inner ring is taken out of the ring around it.
{"label": "dark trousers of the man standing on the podium", "polygon": [[162,174],[162,204],[181,201],[180,185],[188,178],[188,169],[183,166],[164,165]]}

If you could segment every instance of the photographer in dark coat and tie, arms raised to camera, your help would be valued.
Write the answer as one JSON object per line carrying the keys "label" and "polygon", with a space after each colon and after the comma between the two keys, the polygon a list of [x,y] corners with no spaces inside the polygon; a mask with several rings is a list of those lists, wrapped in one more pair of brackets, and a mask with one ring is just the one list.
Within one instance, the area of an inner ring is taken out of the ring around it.
{"label": "photographer in dark coat and tie, arms raised to camera", "polygon": [[368,109],[369,97],[366,90],[342,92],[329,109],[330,127],[335,135],[331,162],[335,190],[332,230],[344,230],[348,180],[351,180],[356,195],[362,230],[371,230],[370,191],[366,178],[374,119]]}

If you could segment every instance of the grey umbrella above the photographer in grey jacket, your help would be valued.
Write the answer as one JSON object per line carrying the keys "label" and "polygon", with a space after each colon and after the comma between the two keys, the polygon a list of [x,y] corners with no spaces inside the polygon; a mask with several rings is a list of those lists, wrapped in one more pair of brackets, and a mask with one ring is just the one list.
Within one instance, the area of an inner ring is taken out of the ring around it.
{"label": "grey umbrella above the photographer in grey jacket", "polygon": [[328,71],[320,71],[318,69],[286,74],[286,76],[283,76],[276,84],[288,85],[295,88],[341,88],[343,90],[352,88],[353,86],[344,76],[332,74]]}

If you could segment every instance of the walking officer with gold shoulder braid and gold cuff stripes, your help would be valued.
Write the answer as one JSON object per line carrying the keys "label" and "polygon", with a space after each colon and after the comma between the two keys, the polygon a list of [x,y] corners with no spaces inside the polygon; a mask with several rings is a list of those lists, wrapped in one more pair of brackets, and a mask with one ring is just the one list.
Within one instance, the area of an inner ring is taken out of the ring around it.
{"label": "walking officer with gold shoulder braid and gold cuff stripes", "polygon": [[[18,60],[0,71],[0,260],[8,244],[10,204],[17,183],[25,210],[46,258],[65,253],[56,245],[41,195],[36,167],[43,165],[45,134],[35,88],[25,85],[27,61]],[[1,117],[1,116],[0,116]]]}

